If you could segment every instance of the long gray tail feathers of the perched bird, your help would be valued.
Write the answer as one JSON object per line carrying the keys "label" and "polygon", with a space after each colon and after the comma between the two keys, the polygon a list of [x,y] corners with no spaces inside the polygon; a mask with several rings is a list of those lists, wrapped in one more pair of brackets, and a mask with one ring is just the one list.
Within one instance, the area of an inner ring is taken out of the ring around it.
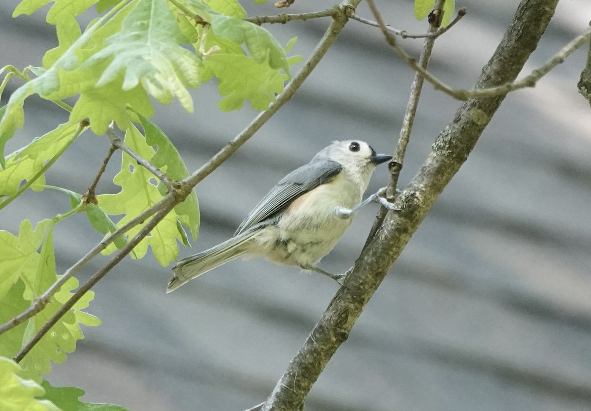
{"label": "long gray tail feathers of the perched bird", "polygon": [[241,234],[209,250],[180,260],[173,268],[173,278],[168,282],[166,292],[174,291],[187,281],[244,255],[248,251],[245,243],[251,237],[252,233]]}

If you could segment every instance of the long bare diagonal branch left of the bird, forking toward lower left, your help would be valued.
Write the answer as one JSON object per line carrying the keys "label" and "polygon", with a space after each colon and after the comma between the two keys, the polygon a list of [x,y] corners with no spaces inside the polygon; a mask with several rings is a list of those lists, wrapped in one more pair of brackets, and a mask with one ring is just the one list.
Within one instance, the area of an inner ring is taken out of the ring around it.
{"label": "long bare diagonal branch left of the bird, forking toward lower left", "polygon": [[[50,289],[48,289],[40,298],[36,299],[33,305],[31,305],[31,307],[27,309],[26,312],[17,317],[19,321],[22,322],[27,318],[31,318],[37,312],[41,311],[41,309],[43,309],[43,307],[47,304],[47,301],[49,301],[49,299],[51,298],[51,295],[59,291],[64,282],[66,282],[67,279],[69,279],[83,266],[85,266],[92,259],[92,257],[97,255],[100,251],[104,250],[106,246],[112,243],[118,236],[130,230],[132,227],[135,227],[138,224],[142,223],[146,218],[152,216],[152,214],[155,214],[152,220],[150,220],[150,223],[148,223],[153,228],[158,223],[158,221],[160,221],[163,218],[163,216],[168,214],[168,212],[170,212],[170,210],[174,208],[175,205],[185,200],[187,195],[189,195],[189,193],[191,192],[191,190],[193,190],[193,187],[197,185],[197,183],[202,181],[203,178],[207,177],[207,175],[209,175],[213,170],[219,167],[219,165],[221,165],[230,155],[236,152],[236,150],[238,150],[238,148],[240,148],[243,145],[243,143],[248,141],[248,139],[251,138],[252,135],[254,135],[254,133],[258,131],[258,129],[261,128],[262,125],[264,125],[264,123],[266,123],[271,118],[271,116],[274,115],[277,112],[277,110],[280,109],[282,105],[284,105],[289,99],[291,99],[291,97],[293,97],[293,95],[296,93],[296,90],[301,86],[304,80],[307,79],[311,71],[317,66],[319,61],[329,50],[330,46],[335,42],[336,38],[338,37],[338,34],[340,33],[340,30],[342,30],[347,21],[345,11],[346,6],[348,6],[348,3],[345,3],[345,5],[339,8],[340,12],[335,13],[335,15],[333,16],[333,21],[329,25],[329,28],[324,34],[324,37],[322,38],[322,40],[320,40],[320,43],[316,45],[316,48],[314,48],[314,51],[309,57],[309,59],[306,61],[306,64],[304,64],[304,66],[300,69],[296,76],[294,76],[293,79],[291,79],[290,83],[288,83],[287,86],[285,86],[285,89],[281,92],[281,94],[277,96],[277,100],[275,100],[275,102],[272,103],[267,110],[261,112],[258,116],[256,116],[256,118],[252,120],[252,122],[238,136],[229,141],[219,152],[217,152],[216,155],[214,155],[201,168],[193,172],[193,174],[185,178],[183,181],[173,182],[170,187],[170,192],[167,195],[165,195],[162,200],[158,201],[157,204],[152,205],[152,207],[148,208],[148,210],[145,210],[142,214],[140,214],[138,217],[135,217],[132,221],[129,221],[129,223],[125,224],[125,226],[121,227],[121,229],[115,231],[115,233],[109,236],[108,239],[101,242],[85,257],[79,260],[79,262],[77,262],[63,276],[61,276],[61,278],[56,283],[54,283]],[[15,357],[15,361],[18,362],[22,360],[22,358],[28,353],[28,351],[30,351],[31,348],[33,348],[34,345],[37,344],[37,342],[40,341],[41,338],[43,338],[43,335],[45,335],[47,331],[50,330],[51,326],[53,326],[53,324],[55,324],[59,320],[59,318],[61,318],[70,308],[72,308],[72,306],[76,304],[76,302],[80,298],[82,298],[86,291],[92,288],[92,286],[95,285],[95,283],[98,282],[98,280],[105,276],[105,274],[109,270],[111,270],[117,263],[119,263],[119,261],[121,261],[121,259],[123,259],[123,257],[125,257],[125,255],[127,255],[131,251],[131,249],[133,249],[135,244],[137,244],[148,233],[150,233],[151,229],[146,230],[148,224],[147,226],[142,228],[141,231],[139,231],[139,233],[134,237],[132,241],[127,243],[121,250],[119,250],[118,254],[115,257],[113,257],[113,259],[109,261],[107,265],[103,266],[103,268],[96,272],[95,275],[91,279],[89,279],[88,282],[85,283],[85,285],[83,285],[76,293],[74,293],[72,297],[70,297],[70,299],[66,302],[66,305],[64,305],[64,307],[67,308],[62,307],[60,311],[58,311],[50,319],[50,321],[48,321],[46,325],[44,325],[39,331],[37,331],[33,339],[30,342],[28,342],[27,345],[25,345],[25,347],[22,348],[22,350],[17,354],[17,356]],[[140,234],[142,234],[141,238],[139,237]],[[136,241],[136,239],[138,238],[139,240]],[[133,245],[129,246],[129,244]],[[81,290],[84,291],[81,292]],[[17,318],[12,319],[7,324],[5,324],[7,325],[6,329],[3,330],[0,327],[0,333],[15,327],[15,325],[20,324],[20,322],[15,324],[15,320]],[[21,321],[21,318],[24,319],[22,319]]]}

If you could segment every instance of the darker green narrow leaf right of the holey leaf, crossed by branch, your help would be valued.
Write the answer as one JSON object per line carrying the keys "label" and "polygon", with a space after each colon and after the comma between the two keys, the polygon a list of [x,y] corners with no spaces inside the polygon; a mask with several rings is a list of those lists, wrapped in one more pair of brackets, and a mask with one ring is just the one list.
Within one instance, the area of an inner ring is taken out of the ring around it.
{"label": "darker green narrow leaf right of the holey leaf, crossed by branch", "polygon": [[[158,151],[152,156],[150,162],[155,167],[165,171],[168,178],[173,181],[180,181],[185,177],[189,177],[189,170],[168,136],[149,119],[142,115],[138,115],[138,117],[144,129],[146,142],[150,146],[158,147]],[[199,203],[197,203],[195,190],[191,190],[191,194],[183,203],[174,207],[174,211],[178,214],[181,223],[191,231],[193,241],[195,241],[199,235],[200,222]],[[184,231],[180,232],[180,234],[181,236],[185,235]],[[183,240],[183,243],[186,244],[186,241]]]}

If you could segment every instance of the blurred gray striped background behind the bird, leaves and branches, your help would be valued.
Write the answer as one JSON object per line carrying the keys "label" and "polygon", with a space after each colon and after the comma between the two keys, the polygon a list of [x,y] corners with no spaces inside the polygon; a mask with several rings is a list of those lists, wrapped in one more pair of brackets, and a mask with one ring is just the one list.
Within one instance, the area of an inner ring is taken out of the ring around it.
{"label": "blurred gray striped background behind the bird, leaves and branches", "polygon": [[[56,45],[44,21],[48,6],[11,19],[17,4],[0,3],[0,66],[39,66],[44,51]],[[431,70],[452,86],[472,87],[517,4],[457,1],[468,14],[437,40]],[[249,16],[331,5],[297,0],[277,10],[245,1]],[[424,32],[412,1],[378,6],[392,27]],[[371,17],[365,4],[358,14]],[[590,19],[589,2],[560,2],[524,73],[545,63]],[[291,54],[307,56],[328,23],[265,27],[281,44],[298,36]],[[418,56],[423,41],[402,44]],[[583,49],[535,89],[506,98],[314,385],[307,409],[591,409],[591,110],[576,90]],[[181,256],[231,236],[275,182],[335,139],[362,139],[378,152],[393,152],[412,77],[377,29],[350,21],[296,97],[199,184],[200,237]],[[6,94],[18,84],[11,80]],[[215,83],[193,96],[193,114],[175,102],[156,106],[154,118],[191,171],[256,115],[248,103],[221,113]],[[459,105],[425,87],[402,185]],[[67,118],[34,97],[25,112],[25,128],[7,153]],[[48,172],[48,184],[85,192],[107,149],[105,136],[86,133]],[[108,169],[111,177],[119,159]],[[386,182],[386,169],[379,168],[369,192]],[[101,193],[116,191],[109,178],[99,184]],[[15,233],[23,218],[39,221],[67,210],[63,194],[30,192],[2,211],[0,228]],[[376,211],[371,205],[358,213],[323,268],[343,272],[352,265]],[[61,222],[55,232],[60,270],[100,238],[85,216]],[[93,261],[80,280],[105,261]],[[170,275],[150,253],[139,261],[126,258],[109,273],[87,310],[102,325],[83,329],[85,340],[65,364],[54,366],[51,383],[82,387],[86,401],[133,411],[241,411],[271,392],[337,290],[323,276],[264,260],[229,263],[165,295]]]}

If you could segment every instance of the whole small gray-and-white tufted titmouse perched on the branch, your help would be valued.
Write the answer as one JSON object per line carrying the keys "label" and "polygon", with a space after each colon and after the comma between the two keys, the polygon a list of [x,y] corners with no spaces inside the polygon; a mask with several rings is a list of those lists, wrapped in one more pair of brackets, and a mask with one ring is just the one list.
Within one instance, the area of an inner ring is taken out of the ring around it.
{"label": "whole small gray-and-white tufted titmouse perched on the branch", "polygon": [[375,154],[362,141],[335,141],[292,171],[256,205],[232,238],[180,260],[166,292],[237,257],[265,257],[337,280],[316,264],[335,247],[359,208],[376,202],[394,209],[382,190],[365,201],[375,166],[392,157]]}

